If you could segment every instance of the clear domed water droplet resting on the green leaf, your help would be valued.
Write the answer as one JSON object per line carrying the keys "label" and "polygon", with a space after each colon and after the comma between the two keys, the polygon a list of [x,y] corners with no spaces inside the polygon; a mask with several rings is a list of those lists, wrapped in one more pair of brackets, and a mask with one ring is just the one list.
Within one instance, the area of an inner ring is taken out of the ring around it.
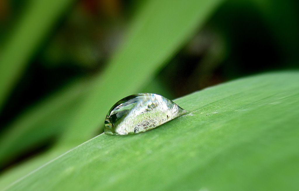
{"label": "clear domed water droplet resting on the green leaf", "polygon": [[140,133],[186,112],[173,101],[158,94],[138,93],[127,96],[112,106],[105,119],[104,131],[109,135]]}

